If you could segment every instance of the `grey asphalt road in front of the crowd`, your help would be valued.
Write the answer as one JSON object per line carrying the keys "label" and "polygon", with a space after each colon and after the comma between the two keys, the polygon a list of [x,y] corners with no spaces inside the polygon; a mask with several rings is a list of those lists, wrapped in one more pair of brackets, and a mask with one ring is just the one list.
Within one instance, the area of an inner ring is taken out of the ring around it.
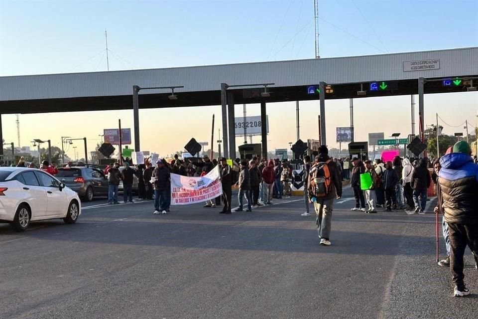
{"label": "grey asphalt road in front of the crowd", "polygon": [[74,225],[0,225],[0,319],[477,318],[473,259],[473,294],[453,298],[433,213],[368,215],[351,198],[336,204],[329,247],[298,197],[232,215],[100,199]]}

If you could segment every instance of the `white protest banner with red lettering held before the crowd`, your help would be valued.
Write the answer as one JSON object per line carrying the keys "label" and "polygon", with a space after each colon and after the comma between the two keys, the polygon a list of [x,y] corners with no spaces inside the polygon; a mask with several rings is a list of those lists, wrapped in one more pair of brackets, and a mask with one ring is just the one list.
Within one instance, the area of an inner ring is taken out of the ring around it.
{"label": "white protest banner with red lettering held before the crowd", "polygon": [[171,174],[171,205],[202,203],[222,193],[219,166],[201,177]]}

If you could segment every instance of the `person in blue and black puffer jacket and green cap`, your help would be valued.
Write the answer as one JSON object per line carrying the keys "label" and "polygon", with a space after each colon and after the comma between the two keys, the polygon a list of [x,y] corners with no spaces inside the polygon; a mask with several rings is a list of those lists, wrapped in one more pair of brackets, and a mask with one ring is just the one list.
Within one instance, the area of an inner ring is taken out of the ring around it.
{"label": "person in blue and black puffer jacket and green cap", "polygon": [[468,143],[456,143],[453,153],[440,159],[442,168],[438,176],[445,221],[450,232],[450,270],[455,297],[470,294],[463,273],[467,245],[478,267],[478,165],[473,162],[471,154]]}

